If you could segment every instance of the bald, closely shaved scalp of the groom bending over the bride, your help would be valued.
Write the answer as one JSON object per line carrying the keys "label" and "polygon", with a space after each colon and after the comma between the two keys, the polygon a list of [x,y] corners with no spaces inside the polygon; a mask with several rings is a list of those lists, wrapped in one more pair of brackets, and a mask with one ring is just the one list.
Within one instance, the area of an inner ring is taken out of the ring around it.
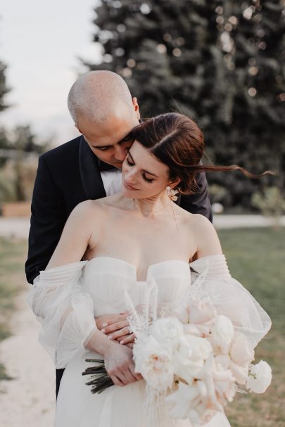
{"label": "bald, closely shaved scalp of the groom bending over the bride", "polygon": [[132,96],[125,81],[112,71],[90,71],[79,77],[68,94],[68,109],[78,125],[80,118],[102,123],[122,108],[132,111]]}

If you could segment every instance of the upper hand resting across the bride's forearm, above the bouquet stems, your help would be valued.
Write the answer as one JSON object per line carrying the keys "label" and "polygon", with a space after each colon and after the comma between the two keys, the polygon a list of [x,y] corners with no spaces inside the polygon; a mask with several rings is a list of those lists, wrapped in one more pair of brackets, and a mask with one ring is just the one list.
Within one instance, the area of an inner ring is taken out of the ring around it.
{"label": "upper hand resting across the bride's forearm, above the bouquet stems", "polygon": [[134,333],[129,332],[129,313],[106,314],[96,317],[96,326],[106,333],[110,340],[117,340],[120,344],[134,343]]}

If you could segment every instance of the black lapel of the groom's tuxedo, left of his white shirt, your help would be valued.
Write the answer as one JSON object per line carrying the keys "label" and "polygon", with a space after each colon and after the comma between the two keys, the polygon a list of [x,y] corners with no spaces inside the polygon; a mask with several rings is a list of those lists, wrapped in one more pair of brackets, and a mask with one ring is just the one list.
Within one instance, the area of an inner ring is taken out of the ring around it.
{"label": "black lapel of the groom's tuxedo, left of his white shirt", "polygon": [[91,151],[84,137],[80,139],[80,176],[87,199],[106,197],[96,155]]}

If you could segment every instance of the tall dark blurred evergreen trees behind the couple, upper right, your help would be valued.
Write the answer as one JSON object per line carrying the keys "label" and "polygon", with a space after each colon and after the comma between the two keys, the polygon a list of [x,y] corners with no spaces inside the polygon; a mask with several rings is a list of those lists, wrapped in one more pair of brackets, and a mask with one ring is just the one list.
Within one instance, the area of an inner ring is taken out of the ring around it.
{"label": "tall dark blurred evergreen trees behind the couple, upper right", "polygon": [[[284,170],[284,1],[101,0],[95,12],[103,56],[84,64],[125,78],[143,117],[177,110],[201,126],[216,164]],[[284,188],[282,174],[208,181],[245,208],[262,186]]]}

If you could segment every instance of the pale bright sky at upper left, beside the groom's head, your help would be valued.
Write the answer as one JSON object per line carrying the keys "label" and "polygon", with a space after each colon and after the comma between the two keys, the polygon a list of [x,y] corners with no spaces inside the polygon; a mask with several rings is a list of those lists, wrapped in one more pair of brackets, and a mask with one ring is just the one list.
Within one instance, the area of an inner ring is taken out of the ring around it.
{"label": "pale bright sky at upper left, beside the groom's head", "polygon": [[8,68],[13,105],[0,125],[32,125],[59,145],[77,136],[66,106],[68,91],[84,71],[78,57],[94,62],[94,7],[99,0],[0,0],[0,60]]}

